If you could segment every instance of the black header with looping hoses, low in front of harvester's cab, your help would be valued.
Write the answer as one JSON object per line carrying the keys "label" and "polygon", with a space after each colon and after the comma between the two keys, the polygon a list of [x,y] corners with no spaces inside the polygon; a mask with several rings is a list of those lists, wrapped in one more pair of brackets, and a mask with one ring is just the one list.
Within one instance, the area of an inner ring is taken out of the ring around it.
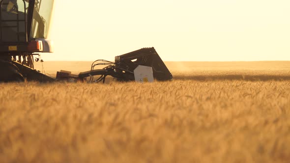
{"label": "black header with looping hoses, low in front of harvester's cab", "polygon": [[[94,69],[97,65],[107,66],[103,69]],[[72,75],[70,72],[58,72],[57,79],[77,79],[84,81],[87,77],[90,77],[89,81],[91,82],[105,82],[107,76],[112,76],[118,81],[134,81],[134,70],[139,65],[152,67],[153,77],[158,81],[173,80],[172,74],[153,47],[118,55],[115,57],[115,62],[98,59],[92,63],[90,71],[82,72],[79,75]],[[94,80],[93,76],[100,77]]]}

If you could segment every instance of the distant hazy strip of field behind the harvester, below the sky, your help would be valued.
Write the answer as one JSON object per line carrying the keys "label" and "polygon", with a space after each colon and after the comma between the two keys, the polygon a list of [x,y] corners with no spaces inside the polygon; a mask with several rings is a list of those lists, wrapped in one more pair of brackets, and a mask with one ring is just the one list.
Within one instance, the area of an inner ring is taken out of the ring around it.
{"label": "distant hazy strip of field behind the harvester, below the sky", "polygon": [[[90,61],[45,61],[44,71],[56,76],[57,71],[67,70],[74,74],[90,70]],[[168,69],[178,80],[290,80],[290,61],[254,62],[165,62]],[[101,69],[104,66],[97,68]],[[42,64],[35,62],[35,68],[42,71]]]}

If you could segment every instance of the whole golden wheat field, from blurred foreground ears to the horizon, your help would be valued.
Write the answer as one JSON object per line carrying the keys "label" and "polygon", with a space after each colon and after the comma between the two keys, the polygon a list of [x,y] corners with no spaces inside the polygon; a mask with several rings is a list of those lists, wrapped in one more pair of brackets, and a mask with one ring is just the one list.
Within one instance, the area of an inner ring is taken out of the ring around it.
{"label": "whole golden wheat field, from blurred foreground ears to the horizon", "polygon": [[0,83],[0,163],[290,162],[290,62],[166,64],[174,81]]}

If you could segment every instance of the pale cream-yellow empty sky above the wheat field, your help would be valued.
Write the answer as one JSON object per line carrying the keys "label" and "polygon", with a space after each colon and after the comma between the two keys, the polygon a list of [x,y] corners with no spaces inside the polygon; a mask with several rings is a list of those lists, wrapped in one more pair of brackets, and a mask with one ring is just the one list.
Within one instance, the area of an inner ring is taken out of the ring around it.
{"label": "pale cream-yellow empty sky above the wheat field", "polygon": [[290,60],[290,0],[55,0],[45,60]]}

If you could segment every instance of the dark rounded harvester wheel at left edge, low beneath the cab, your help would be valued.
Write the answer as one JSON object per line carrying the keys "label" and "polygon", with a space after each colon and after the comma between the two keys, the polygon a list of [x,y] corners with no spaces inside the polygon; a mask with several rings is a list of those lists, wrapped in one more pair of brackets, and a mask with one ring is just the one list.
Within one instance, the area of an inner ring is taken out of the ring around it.
{"label": "dark rounded harvester wheel at left edge, low beneath the cab", "polygon": [[0,81],[23,82],[24,78],[16,65],[9,61],[0,60]]}

